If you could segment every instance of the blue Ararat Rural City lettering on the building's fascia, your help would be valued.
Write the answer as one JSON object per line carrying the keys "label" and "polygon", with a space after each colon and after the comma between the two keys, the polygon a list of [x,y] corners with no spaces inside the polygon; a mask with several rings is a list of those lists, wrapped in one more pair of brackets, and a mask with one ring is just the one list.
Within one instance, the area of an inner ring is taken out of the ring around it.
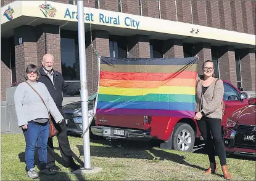
{"label": "blue Ararat Rural City lettering on the building's fascia", "polygon": [[[69,19],[78,19],[77,12],[75,11],[70,11],[68,8],[65,10],[65,15],[64,18],[69,18]],[[125,17],[125,18],[120,18],[120,15],[114,15],[114,16],[108,16],[105,15],[104,13],[98,13],[97,14],[98,22],[104,25],[120,25],[120,23],[123,23],[125,26],[128,27],[133,27],[136,29],[139,29],[139,21],[135,20],[131,17]],[[95,16],[93,13],[85,13],[85,21],[94,21]]]}

